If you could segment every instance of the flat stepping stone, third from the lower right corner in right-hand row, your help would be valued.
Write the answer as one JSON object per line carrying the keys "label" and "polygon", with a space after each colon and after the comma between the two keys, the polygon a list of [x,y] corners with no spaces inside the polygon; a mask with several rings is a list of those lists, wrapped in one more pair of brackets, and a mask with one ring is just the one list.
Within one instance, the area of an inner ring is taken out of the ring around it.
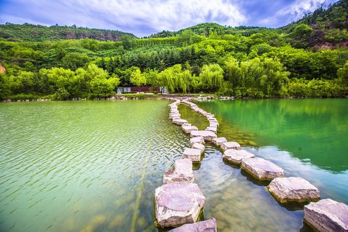
{"label": "flat stepping stone, third from the lower right corner in right-hand row", "polygon": [[284,177],[284,170],[281,167],[259,157],[243,159],[241,167],[258,180]]}

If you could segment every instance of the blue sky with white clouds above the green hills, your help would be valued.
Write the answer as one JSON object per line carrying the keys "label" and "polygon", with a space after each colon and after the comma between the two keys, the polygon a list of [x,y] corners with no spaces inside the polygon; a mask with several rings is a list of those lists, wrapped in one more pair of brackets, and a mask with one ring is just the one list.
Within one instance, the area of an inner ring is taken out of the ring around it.
{"label": "blue sky with white clouds above the green hills", "polygon": [[0,0],[0,24],[87,26],[149,36],[204,22],[277,28],[336,0]]}

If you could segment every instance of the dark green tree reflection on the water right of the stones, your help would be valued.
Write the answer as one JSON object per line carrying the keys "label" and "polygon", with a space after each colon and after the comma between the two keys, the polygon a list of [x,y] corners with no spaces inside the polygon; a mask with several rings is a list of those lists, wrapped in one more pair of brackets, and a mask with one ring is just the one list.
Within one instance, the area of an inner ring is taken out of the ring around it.
{"label": "dark green tree reflection on the water right of the stones", "polygon": [[278,146],[322,169],[345,171],[347,104],[344,99],[303,99],[211,101],[199,106],[222,121],[221,136],[234,136],[233,130],[223,130],[229,124],[240,139],[250,133],[259,146]]}

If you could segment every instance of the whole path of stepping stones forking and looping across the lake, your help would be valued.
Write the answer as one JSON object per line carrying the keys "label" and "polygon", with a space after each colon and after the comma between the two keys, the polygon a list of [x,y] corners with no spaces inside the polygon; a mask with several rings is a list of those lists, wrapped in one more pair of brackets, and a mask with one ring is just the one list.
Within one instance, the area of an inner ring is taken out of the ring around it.
{"label": "whole path of stepping stones forking and looping across the lake", "polygon": [[[287,206],[290,203],[304,206],[304,222],[317,231],[348,231],[348,206],[331,199],[320,200],[317,187],[301,177],[285,178],[281,167],[255,157],[252,153],[241,150],[235,141],[227,141],[218,137],[218,120],[213,114],[200,109],[188,100],[174,100],[169,105],[169,119],[180,125],[183,132],[190,134],[190,148],[183,152],[183,158],[176,160],[173,170],[163,175],[163,185],[155,190],[156,225],[178,227],[172,231],[217,231],[214,218],[197,222],[203,210],[205,197],[194,183],[192,163],[200,163],[204,153],[205,141],[211,141],[224,152],[223,159],[233,165],[241,166],[246,173],[257,180],[271,180],[266,187],[268,192],[280,203]],[[205,130],[198,130],[181,118],[178,105],[188,105],[193,111],[202,114],[209,121]],[[310,203],[305,206],[306,203]]]}

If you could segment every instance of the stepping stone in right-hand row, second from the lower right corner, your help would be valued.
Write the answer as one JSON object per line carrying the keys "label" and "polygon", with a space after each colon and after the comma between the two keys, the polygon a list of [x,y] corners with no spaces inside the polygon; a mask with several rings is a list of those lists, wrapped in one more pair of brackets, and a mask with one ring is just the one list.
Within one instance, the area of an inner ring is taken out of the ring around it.
{"label": "stepping stone in right-hand row, second from the lower right corner", "polygon": [[267,190],[280,203],[305,203],[320,199],[317,187],[301,177],[274,178]]}

